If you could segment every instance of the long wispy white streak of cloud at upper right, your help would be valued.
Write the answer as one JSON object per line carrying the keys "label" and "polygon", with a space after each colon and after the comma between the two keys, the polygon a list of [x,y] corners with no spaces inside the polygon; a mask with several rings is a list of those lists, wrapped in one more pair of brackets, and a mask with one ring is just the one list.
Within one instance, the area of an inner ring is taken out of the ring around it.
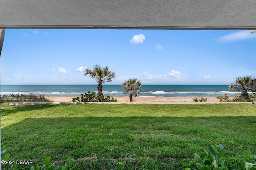
{"label": "long wispy white streak of cloud at upper right", "polygon": [[219,37],[218,39],[223,42],[234,42],[234,41],[256,37],[256,34],[252,34],[251,32],[252,31],[249,31],[249,30],[239,31],[239,32],[235,32],[229,35]]}

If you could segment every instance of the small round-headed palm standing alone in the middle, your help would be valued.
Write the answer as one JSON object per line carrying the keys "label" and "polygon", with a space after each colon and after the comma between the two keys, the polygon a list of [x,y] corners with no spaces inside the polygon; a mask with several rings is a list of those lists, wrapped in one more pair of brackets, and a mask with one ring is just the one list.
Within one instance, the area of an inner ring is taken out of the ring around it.
{"label": "small round-headed palm standing alone in the middle", "polygon": [[124,83],[122,84],[122,88],[124,88],[124,94],[130,93],[130,102],[132,102],[132,96],[138,96],[140,94],[141,90],[139,89],[141,87],[141,82],[135,79],[129,79],[125,80]]}

